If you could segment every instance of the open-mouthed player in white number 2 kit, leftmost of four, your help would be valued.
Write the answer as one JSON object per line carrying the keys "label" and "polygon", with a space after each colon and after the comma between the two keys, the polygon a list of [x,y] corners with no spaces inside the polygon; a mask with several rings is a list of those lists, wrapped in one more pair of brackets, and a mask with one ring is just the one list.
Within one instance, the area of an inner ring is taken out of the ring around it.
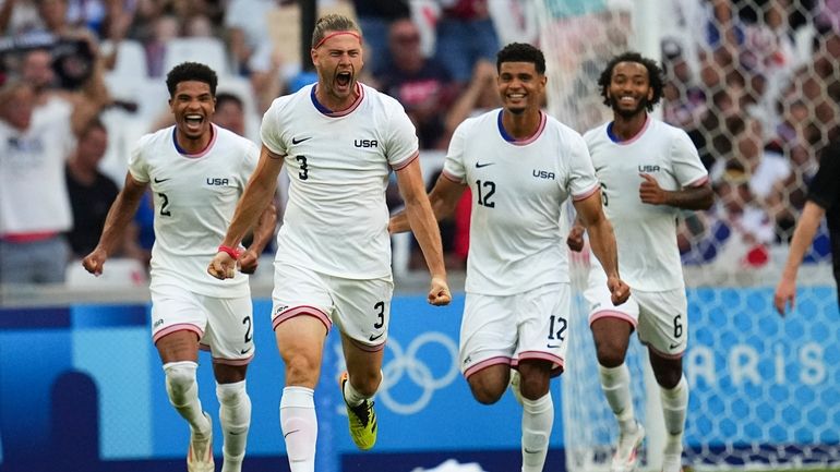
{"label": "open-mouthed player in white number 2 kit, leftmost of four", "polygon": [[[99,244],[83,259],[99,275],[120,234],[132,220],[147,186],[154,193],[155,245],[152,249],[152,332],[166,373],[166,391],[190,425],[189,472],[213,472],[213,427],[195,382],[199,343],[209,347],[224,434],[221,472],[240,472],[251,423],[245,370],[254,355],[248,277],[218,280],[205,270],[223,228],[256,167],[250,141],[211,123],[216,73],[184,62],[166,77],[176,124],[147,134],[131,154],[125,185],[111,205]],[[254,240],[239,259],[242,273],[274,233],[273,205],[261,211]]]}

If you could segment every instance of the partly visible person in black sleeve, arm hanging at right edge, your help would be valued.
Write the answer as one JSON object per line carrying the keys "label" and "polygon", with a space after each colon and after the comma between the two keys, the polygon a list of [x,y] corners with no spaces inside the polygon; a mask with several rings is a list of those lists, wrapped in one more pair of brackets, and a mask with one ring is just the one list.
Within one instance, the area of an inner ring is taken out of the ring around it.
{"label": "partly visible person in black sleeve, arm hanging at right edge", "polygon": [[[782,316],[789,303],[793,308],[796,300],[796,273],[824,216],[828,219],[831,239],[835,283],[840,285],[840,185],[838,182],[840,182],[840,140],[835,140],[823,152],[819,170],[808,185],[808,198],[793,231],[788,262],[781,280],[776,287],[773,304]],[[840,306],[840,299],[838,299],[838,306]]]}

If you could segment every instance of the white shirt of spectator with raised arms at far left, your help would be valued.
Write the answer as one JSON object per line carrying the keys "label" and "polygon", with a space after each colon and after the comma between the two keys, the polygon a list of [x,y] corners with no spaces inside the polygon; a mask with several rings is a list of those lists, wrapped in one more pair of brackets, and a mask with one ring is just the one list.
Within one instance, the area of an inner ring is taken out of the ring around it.
{"label": "white shirt of spectator with raised arms at far left", "polygon": [[26,131],[0,120],[0,235],[61,232],[73,226],[64,162],[75,146],[72,108],[50,100]]}

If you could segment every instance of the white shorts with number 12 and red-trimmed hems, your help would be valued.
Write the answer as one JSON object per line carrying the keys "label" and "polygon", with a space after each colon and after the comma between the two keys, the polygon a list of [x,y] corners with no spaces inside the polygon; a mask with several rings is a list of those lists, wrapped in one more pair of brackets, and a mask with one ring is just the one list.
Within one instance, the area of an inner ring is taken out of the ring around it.
{"label": "white shorts with number 12 and red-trimmed hems", "polygon": [[524,360],[550,361],[553,374],[562,373],[569,291],[568,283],[549,283],[514,295],[467,293],[458,354],[464,376]]}

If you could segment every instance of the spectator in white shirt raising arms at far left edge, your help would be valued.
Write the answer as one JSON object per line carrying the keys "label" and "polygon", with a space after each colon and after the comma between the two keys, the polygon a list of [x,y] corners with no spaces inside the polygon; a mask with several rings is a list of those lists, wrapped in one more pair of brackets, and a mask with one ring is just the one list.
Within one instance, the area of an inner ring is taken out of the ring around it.
{"label": "spectator in white shirt raising arms at far left edge", "polygon": [[[96,61],[79,90],[57,90],[49,51],[24,56],[0,96],[0,282],[60,282],[72,228],[64,164],[109,101]],[[45,191],[49,190],[49,191]]]}

